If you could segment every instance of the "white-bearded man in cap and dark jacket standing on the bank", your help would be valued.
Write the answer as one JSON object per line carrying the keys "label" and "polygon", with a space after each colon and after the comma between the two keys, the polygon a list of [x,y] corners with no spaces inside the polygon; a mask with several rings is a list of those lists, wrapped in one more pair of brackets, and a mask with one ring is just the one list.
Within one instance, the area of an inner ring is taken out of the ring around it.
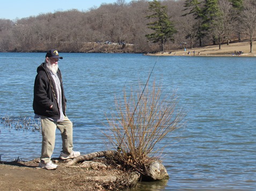
{"label": "white-bearded man in cap and dark jacket standing on the bank", "polygon": [[58,128],[62,137],[61,159],[75,158],[80,152],[73,151],[73,127],[65,114],[66,98],[64,95],[61,71],[58,60],[63,59],[57,50],[49,50],[45,62],[37,69],[34,83],[33,109],[35,118],[41,118],[42,150],[39,167],[47,170],[57,168],[51,161],[55,144],[55,131]]}

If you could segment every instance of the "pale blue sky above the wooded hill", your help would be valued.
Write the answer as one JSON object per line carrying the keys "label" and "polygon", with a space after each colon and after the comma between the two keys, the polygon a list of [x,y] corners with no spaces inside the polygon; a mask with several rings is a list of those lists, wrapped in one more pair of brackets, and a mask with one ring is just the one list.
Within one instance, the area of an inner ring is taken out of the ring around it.
{"label": "pale blue sky above the wooded hill", "polygon": [[[71,9],[88,11],[90,8],[99,7],[103,3],[115,2],[116,0],[5,0],[0,4],[0,19],[15,20]],[[128,3],[130,1],[126,0],[125,2]]]}

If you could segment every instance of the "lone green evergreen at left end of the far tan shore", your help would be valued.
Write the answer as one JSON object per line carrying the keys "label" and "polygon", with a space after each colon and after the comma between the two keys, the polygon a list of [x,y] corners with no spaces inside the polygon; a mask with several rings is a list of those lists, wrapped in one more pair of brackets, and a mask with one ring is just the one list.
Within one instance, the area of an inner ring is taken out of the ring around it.
{"label": "lone green evergreen at left end of the far tan shore", "polygon": [[167,16],[167,7],[162,6],[157,0],[149,2],[149,11],[152,12],[146,18],[153,21],[148,23],[148,28],[155,30],[154,33],[145,35],[149,41],[160,43],[161,51],[164,51],[164,45],[168,40],[174,42],[173,35],[177,33],[173,22]]}

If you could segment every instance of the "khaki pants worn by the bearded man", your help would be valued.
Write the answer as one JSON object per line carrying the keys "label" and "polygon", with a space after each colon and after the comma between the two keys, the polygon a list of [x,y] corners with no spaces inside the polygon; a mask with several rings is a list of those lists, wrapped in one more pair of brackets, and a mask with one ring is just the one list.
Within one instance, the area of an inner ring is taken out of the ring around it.
{"label": "khaki pants worn by the bearded man", "polygon": [[62,151],[71,154],[73,149],[73,125],[68,117],[64,116],[63,121],[52,121],[47,117],[41,116],[42,125],[42,151],[41,162],[49,163],[55,145],[56,128],[61,131]]}

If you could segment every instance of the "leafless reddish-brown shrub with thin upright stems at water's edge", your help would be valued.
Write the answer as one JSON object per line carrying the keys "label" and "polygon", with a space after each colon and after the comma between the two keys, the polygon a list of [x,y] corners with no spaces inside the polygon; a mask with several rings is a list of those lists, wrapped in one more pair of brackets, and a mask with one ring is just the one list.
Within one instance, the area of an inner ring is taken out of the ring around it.
{"label": "leafless reddish-brown shrub with thin upright stems at water's edge", "polygon": [[112,146],[118,147],[116,161],[144,174],[166,146],[159,143],[185,125],[182,122],[185,114],[182,108],[177,109],[176,91],[163,96],[161,86],[155,81],[151,87],[147,83],[142,89],[142,86],[137,91],[131,88],[128,94],[124,88],[123,100],[115,99],[117,113],[107,118],[111,131],[105,135]]}

